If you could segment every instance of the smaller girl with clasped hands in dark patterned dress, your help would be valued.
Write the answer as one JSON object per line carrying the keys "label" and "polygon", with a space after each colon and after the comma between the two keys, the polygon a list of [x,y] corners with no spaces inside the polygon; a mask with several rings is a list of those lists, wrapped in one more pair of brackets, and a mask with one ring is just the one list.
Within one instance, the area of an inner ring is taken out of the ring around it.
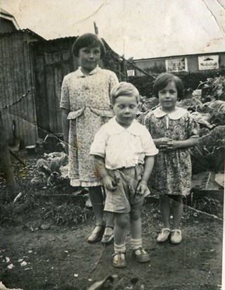
{"label": "smaller girl with clasped hands in dark patterned dress", "polygon": [[[153,85],[153,93],[160,106],[146,115],[143,123],[159,149],[150,179],[150,185],[160,193],[160,212],[163,228],[157,241],[166,241],[170,234],[172,244],[182,241],[179,229],[183,212],[183,196],[191,189],[190,148],[198,141],[198,125],[184,108],[176,107],[183,96],[179,77],[160,74]],[[169,217],[172,214],[172,229]]]}

